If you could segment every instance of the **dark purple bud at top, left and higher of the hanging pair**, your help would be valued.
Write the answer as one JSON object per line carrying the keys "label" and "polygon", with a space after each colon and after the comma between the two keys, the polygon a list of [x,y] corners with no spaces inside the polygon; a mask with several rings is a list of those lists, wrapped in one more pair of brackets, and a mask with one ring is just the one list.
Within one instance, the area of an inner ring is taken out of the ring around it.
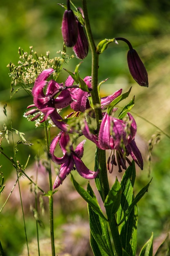
{"label": "dark purple bud at top, left and higher of the hanging pair", "polygon": [[77,42],[78,27],[75,15],[71,9],[64,11],[62,19],[62,37],[67,47],[73,47]]}

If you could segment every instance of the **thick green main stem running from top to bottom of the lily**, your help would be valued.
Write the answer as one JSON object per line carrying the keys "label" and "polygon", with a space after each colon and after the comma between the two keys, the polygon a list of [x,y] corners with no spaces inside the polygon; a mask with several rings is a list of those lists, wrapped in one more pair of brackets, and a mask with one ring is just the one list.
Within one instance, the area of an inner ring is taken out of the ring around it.
{"label": "thick green main stem running from top to bottom of the lily", "polygon": [[[100,106],[100,97],[98,90],[98,67],[99,67],[99,54],[96,53],[96,46],[93,39],[90,22],[88,19],[88,10],[86,0],[82,0],[83,11],[84,11],[84,22],[86,28],[86,34],[88,37],[88,42],[91,48],[92,54],[92,88],[91,97],[93,100],[93,106],[95,109],[95,118],[97,123],[97,132],[99,132],[100,122],[102,120],[102,110],[99,108]],[[106,199],[106,196],[109,192],[109,184],[108,184],[108,176],[107,176],[107,168],[106,168],[106,151],[98,148],[98,167],[99,167],[99,186],[100,186],[100,195],[102,196],[103,202]],[[110,222],[110,230],[112,231],[113,242],[115,245],[116,256],[122,256],[122,245],[119,236],[119,231],[117,227],[116,219]]]}

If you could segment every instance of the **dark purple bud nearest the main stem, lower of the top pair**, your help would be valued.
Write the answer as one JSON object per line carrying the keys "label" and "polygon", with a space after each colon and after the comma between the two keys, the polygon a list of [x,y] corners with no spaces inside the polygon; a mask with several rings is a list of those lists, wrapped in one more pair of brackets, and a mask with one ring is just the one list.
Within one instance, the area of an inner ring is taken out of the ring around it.
{"label": "dark purple bud nearest the main stem, lower of the top pair", "polygon": [[73,47],[73,51],[77,58],[84,59],[88,54],[88,40],[84,33],[84,29],[82,24],[77,20],[78,24],[78,37],[75,46]]}

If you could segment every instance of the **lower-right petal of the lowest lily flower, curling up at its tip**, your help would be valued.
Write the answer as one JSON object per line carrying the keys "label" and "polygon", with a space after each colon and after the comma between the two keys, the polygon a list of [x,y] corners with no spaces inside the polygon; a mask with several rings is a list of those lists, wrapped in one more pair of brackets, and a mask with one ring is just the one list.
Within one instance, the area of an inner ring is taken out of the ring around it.
{"label": "lower-right petal of the lowest lily flower, curling up at its tip", "polygon": [[75,168],[77,169],[77,172],[79,173],[79,175],[81,175],[86,179],[95,179],[97,177],[99,171],[96,171],[96,172],[90,171],[82,162],[82,160],[79,159],[79,157],[77,157],[76,155],[73,155],[73,159],[75,163]]}

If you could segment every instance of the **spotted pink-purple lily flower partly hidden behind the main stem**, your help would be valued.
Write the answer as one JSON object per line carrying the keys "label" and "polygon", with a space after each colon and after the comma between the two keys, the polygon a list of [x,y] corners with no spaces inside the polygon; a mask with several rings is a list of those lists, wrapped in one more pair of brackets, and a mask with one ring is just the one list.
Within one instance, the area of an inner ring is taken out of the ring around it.
{"label": "spotted pink-purple lily flower partly hidden behind the main stem", "polygon": [[[91,76],[86,76],[84,78],[84,82],[88,86],[88,88],[92,89],[92,84],[91,84]],[[72,86],[74,83],[74,79],[71,76],[68,76],[68,78],[65,81],[65,86],[69,87]],[[90,96],[89,92],[84,92],[80,88],[71,88],[68,89],[71,91],[72,96],[74,98],[73,102],[71,102],[70,106],[73,108],[75,111],[80,111],[84,112],[86,109],[90,108],[90,103],[88,100],[88,96]],[[113,94],[101,98],[101,108],[102,110],[106,109],[108,105],[115,99],[117,98],[122,92],[122,89],[117,90]]]}

